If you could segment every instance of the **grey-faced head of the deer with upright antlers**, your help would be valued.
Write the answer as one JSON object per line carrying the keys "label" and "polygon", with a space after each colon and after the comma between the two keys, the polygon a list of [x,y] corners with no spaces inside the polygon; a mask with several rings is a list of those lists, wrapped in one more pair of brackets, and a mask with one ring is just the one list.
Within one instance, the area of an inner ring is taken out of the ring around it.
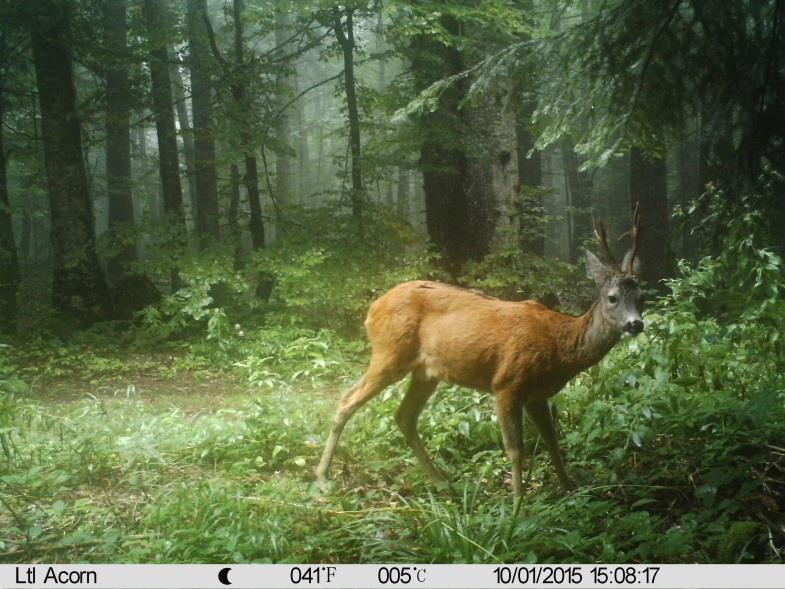
{"label": "grey-faced head of the deer with upright antlers", "polygon": [[640,275],[640,260],[638,259],[638,227],[640,213],[638,206],[632,217],[632,229],[621,235],[622,239],[629,235],[632,240],[630,249],[619,264],[608,247],[605,228],[601,222],[594,222],[594,234],[600,242],[600,247],[610,260],[610,266],[603,264],[600,259],[590,251],[586,252],[586,266],[589,276],[597,283],[600,289],[598,310],[612,326],[620,331],[636,335],[643,331],[643,317],[641,316],[641,289],[638,283]]}

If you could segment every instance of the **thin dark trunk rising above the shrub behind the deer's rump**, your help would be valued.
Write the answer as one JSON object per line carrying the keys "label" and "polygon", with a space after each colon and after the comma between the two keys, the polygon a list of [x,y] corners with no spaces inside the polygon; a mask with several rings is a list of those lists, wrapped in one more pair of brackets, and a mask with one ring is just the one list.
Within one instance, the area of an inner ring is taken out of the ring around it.
{"label": "thin dark trunk rising above the shrub behind the deer's rump", "polygon": [[345,8],[346,30],[339,9],[333,8],[335,36],[343,52],[343,75],[346,90],[346,108],[349,113],[349,151],[352,156],[352,215],[362,226],[362,212],[365,200],[363,188],[362,163],[360,154],[360,111],[357,106],[357,88],[354,77],[354,24],[353,8]]}

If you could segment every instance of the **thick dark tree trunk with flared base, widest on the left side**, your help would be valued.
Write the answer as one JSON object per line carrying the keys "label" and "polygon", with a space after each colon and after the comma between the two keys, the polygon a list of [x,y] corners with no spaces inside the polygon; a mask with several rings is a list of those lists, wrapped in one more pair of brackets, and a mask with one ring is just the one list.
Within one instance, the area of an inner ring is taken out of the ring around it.
{"label": "thick dark tree trunk with flared base, widest on the left side", "polygon": [[30,29],[52,217],[52,299],[56,309],[91,322],[107,318],[111,302],[95,251],[93,211],[67,42],[69,8],[52,0],[42,0],[39,8]]}

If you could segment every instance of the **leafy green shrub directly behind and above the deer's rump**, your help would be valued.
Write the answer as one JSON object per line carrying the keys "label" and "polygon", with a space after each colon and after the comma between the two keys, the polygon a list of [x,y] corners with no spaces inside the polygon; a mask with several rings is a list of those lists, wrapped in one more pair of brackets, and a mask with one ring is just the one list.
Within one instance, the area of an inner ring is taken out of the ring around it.
{"label": "leafy green shrub directly behind and above the deer's rump", "polygon": [[357,336],[372,300],[435,272],[422,237],[387,209],[369,210],[362,231],[336,208],[303,209],[297,219],[255,261],[275,280],[270,322]]}

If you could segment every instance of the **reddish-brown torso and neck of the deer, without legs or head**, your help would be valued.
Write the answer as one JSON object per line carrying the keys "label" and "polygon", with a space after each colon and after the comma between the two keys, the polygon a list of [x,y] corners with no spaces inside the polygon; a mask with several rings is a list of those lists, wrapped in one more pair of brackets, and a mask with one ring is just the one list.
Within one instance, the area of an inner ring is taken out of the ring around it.
{"label": "reddish-brown torso and neck of the deer, without legs or head", "polygon": [[610,349],[613,341],[589,357],[579,353],[591,317],[414,281],[374,302],[365,327],[372,365],[484,391],[515,391],[526,403],[555,395]]}

